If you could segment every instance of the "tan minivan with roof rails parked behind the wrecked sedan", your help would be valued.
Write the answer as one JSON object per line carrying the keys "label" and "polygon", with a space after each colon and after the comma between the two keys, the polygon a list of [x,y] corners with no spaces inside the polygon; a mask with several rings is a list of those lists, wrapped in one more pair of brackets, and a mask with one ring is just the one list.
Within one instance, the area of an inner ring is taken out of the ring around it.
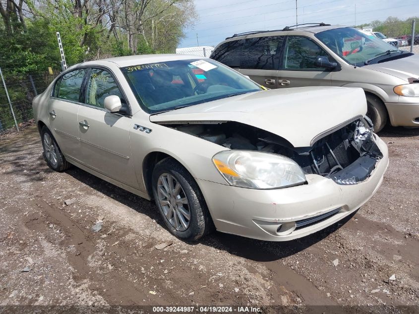
{"label": "tan minivan with roof rails parked behind the wrecked sedan", "polygon": [[235,34],[210,58],[268,88],[360,87],[376,132],[388,120],[419,126],[419,56],[357,28],[320,23]]}

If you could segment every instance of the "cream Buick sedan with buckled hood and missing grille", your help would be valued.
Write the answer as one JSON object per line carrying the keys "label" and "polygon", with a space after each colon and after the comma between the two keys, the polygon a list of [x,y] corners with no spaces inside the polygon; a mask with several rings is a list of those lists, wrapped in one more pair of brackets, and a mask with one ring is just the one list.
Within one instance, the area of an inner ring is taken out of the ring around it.
{"label": "cream Buick sedan with buckled hood and missing grille", "polygon": [[154,198],[185,240],[309,235],[355,212],[388,165],[362,89],[266,90],[196,56],[80,63],[33,110],[52,169]]}

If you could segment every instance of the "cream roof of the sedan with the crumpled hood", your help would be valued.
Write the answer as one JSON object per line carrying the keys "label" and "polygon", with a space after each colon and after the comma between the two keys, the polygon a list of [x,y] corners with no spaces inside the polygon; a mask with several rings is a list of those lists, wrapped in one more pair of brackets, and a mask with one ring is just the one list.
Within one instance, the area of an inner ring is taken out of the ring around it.
{"label": "cream roof of the sedan with the crumpled hood", "polygon": [[96,61],[88,61],[78,63],[77,65],[105,65],[112,62],[119,67],[146,64],[146,63],[160,63],[176,60],[189,60],[189,59],[208,59],[207,57],[194,56],[194,55],[181,55],[181,54],[160,54],[160,55],[135,55],[126,57],[107,58]]}

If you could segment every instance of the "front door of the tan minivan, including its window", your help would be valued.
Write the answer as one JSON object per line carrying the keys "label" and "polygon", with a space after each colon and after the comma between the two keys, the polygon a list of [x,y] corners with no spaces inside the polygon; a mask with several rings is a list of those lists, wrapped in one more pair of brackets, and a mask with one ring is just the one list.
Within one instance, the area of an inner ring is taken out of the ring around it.
{"label": "front door of the tan minivan, including its window", "polygon": [[287,36],[278,71],[278,87],[331,86],[331,72],[314,64],[321,56],[331,58],[310,38]]}

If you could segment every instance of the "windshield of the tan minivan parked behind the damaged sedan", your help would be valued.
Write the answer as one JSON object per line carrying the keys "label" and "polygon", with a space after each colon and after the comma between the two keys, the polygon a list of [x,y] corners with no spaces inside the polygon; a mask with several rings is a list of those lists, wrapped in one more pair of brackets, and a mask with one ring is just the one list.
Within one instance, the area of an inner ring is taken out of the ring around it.
{"label": "windshield of the tan minivan parked behind the damaged sedan", "polygon": [[353,27],[336,28],[315,35],[347,63],[362,66],[373,58],[397,52],[397,48]]}

